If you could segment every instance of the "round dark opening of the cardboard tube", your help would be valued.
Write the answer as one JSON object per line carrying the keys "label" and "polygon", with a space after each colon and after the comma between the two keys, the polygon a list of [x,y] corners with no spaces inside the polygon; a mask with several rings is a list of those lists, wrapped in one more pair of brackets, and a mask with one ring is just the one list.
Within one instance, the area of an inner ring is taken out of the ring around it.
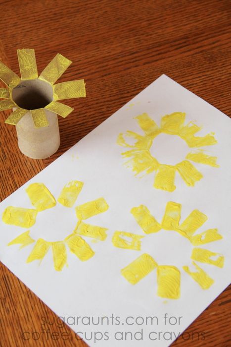
{"label": "round dark opening of the cardboard tube", "polygon": [[53,100],[53,88],[38,78],[23,80],[13,88],[12,99],[22,109],[42,109]]}

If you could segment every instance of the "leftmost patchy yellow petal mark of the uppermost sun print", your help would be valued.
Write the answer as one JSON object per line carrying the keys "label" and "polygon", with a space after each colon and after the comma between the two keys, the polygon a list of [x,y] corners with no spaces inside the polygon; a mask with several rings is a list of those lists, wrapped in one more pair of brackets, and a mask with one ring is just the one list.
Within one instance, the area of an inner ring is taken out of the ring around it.
{"label": "leftmost patchy yellow petal mark of the uppermost sun print", "polygon": [[133,145],[128,144],[125,139],[124,135],[120,133],[117,137],[117,144],[123,147],[130,147],[130,148],[136,148],[136,149],[144,149],[147,150],[152,145],[152,139],[148,138],[147,136],[142,136],[137,134],[134,131],[128,130],[125,134],[128,138],[132,138],[135,143]]}

